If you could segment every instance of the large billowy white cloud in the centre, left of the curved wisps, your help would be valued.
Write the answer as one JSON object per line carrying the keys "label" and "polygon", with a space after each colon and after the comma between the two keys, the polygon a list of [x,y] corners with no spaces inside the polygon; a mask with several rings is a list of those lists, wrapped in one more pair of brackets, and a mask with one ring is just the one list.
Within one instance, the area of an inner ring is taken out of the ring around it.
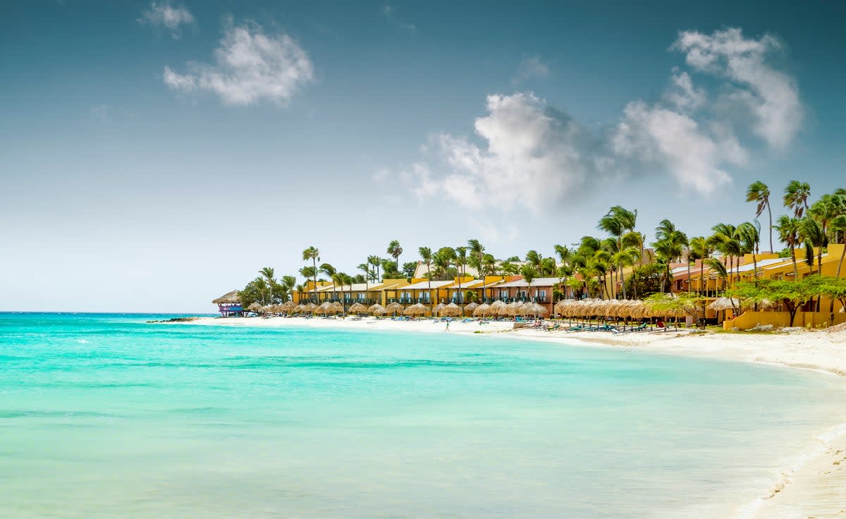
{"label": "large billowy white cloud in the centre, left of the curved wisps", "polygon": [[417,196],[443,194],[470,209],[520,205],[539,212],[598,173],[591,136],[531,92],[488,96],[486,109],[475,121],[484,146],[437,135],[427,148],[448,173],[435,177],[428,165],[415,163],[402,174]]}

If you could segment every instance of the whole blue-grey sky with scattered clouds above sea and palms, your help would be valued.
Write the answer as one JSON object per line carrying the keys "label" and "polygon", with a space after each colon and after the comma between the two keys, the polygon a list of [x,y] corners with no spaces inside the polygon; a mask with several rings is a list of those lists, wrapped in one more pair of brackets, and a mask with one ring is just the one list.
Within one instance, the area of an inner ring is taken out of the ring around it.
{"label": "whole blue-grey sky with scattered clouds above sea and palms", "polygon": [[[843,185],[843,7],[21,2],[0,19],[8,310],[200,311],[306,246],[497,257]],[[777,208],[778,212],[778,208]]]}

